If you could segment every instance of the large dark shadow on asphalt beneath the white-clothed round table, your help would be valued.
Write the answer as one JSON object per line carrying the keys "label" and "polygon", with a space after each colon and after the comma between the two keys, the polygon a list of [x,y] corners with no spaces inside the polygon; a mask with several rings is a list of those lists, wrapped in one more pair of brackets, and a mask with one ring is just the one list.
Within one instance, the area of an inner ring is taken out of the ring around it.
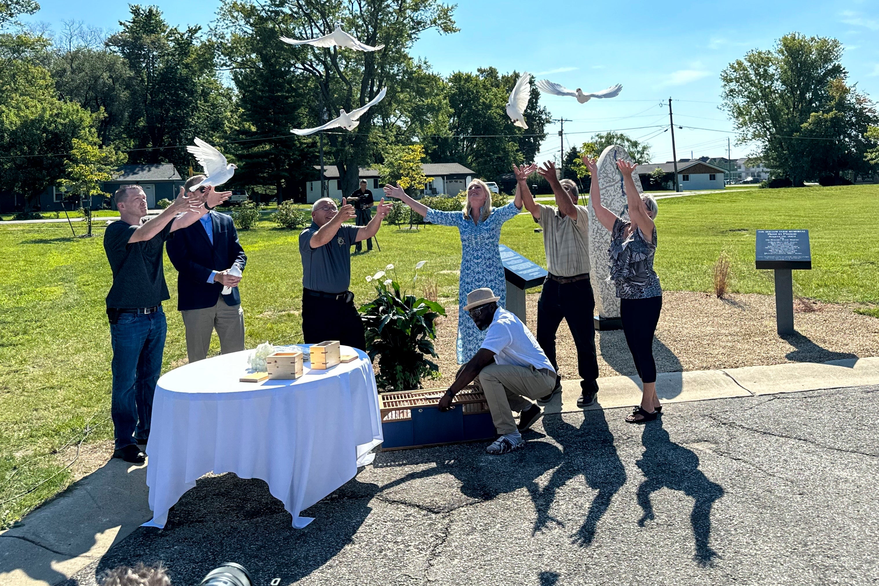
{"label": "large dark shadow on asphalt beneath the white-clothed round table", "polygon": [[141,527],[107,552],[95,573],[162,561],[173,584],[197,584],[211,569],[235,561],[254,584],[296,582],[352,542],[377,491],[375,484],[348,481],[302,512],[315,517],[310,525],[294,529],[265,481],[235,474],[201,478],[171,510],[164,529]]}

